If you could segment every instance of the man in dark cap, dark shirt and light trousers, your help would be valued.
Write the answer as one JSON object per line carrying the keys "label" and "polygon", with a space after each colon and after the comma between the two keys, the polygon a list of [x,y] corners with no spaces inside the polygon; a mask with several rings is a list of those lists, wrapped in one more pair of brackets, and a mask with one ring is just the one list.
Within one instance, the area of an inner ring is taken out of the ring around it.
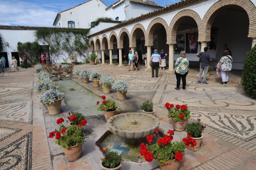
{"label": "man in dark cap, dark shirt and light trousers", "polygon": [[212,61],[211,59],[211,55],[209,54],[209,49],[210,47],[204,47],[204,52],[201,52],[199,54],[196,54],[197,57],[200,58],[200,73],[198,75],[198,80],[197,80],[197,84],[201,83],[201,76],[203,75],[203,81],[202,84],[203,85],[207,85],[208,83],[206,83],[206,76],[207,76],[207,72],[209,69],[209,62]]}

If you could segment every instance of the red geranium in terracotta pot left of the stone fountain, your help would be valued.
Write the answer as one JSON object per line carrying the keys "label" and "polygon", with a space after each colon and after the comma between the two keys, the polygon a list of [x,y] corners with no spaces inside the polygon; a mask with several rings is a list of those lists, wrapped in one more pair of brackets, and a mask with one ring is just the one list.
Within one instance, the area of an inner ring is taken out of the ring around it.
{"label": "red geranium in terracotta pot left of the stone fountain", "polygon": [[[72,115],[70,119],[76,119],[75,115]],[[59,130],[55,130],[50,133],[49,138],[55,136],[55,144],[60,145],[63,148],[66,158],[69,161],[78,160],[81,157],[82,147],[84,143],[85,134],[82,131],[87,121],[82,120],[78,125],[64,126],[63,118],[57,120],[57,124],[60,125]]]}

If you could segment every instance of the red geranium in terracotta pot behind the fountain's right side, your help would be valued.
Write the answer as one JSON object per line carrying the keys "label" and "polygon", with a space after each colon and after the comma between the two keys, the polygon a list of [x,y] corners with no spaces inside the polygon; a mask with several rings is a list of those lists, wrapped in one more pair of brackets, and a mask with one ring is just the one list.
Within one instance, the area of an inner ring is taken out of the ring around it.
{"label": "red geranium in terracotta pot behind the fountain's right side", "polygon": [[164,106],[168,110],[168,117],[172,119],[173,127],[177,131],[183,131],[188,119],[190,119],[190,111],[187,105],[176,105],[166,103]]}

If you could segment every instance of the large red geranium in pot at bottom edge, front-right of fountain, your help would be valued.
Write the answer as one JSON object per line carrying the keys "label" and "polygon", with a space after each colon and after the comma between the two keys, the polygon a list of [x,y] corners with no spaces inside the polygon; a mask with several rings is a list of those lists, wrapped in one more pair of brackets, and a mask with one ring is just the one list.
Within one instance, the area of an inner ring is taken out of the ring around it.
{"label": "large red geranium in pot at bottom edge, front-right of fountain", "polygon": [[153,135],[146,137],[147,142],[151,144],[153,138],[158,134],[159,138],[155,144],[140,144],[140,154],[144,156],[147,162],[156,159],[161,170],[177,170],[180,166],[180,161],[185,154],[185,144],[183,142],[172,142],[174,131],[169,130],[167,135],[160,137],[160,130],[156,129]]}

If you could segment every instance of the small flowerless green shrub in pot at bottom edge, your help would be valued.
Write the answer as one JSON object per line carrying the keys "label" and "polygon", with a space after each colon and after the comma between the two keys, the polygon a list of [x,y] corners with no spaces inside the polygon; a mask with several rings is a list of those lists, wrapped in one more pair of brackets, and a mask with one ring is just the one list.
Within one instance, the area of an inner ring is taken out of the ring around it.
{"label": "small flowerless green shrub in pot at bottom edge", "polygon": [[104,155],[103,158],[101,158],[102,165],[106,168],[116,168],[120,165],[122,159],[121,155],[118,155],[117,152],[108,152],[106,155]]}

